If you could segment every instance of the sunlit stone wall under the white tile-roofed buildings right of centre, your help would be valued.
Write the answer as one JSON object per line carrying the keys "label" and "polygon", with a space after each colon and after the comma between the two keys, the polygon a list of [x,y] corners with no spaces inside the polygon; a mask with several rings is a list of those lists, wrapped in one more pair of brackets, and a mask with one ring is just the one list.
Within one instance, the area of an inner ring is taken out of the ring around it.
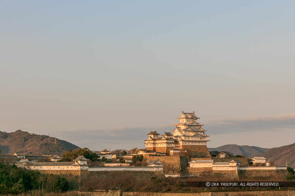
{"label": "sunlit stone wall under the white tile-roofed buildings right of centre", "polygon": [[189,173],[194,173],[195,177],[225,177],[231,179],[239,179],[237,170],[212,170],[212,167],[187,167]]}

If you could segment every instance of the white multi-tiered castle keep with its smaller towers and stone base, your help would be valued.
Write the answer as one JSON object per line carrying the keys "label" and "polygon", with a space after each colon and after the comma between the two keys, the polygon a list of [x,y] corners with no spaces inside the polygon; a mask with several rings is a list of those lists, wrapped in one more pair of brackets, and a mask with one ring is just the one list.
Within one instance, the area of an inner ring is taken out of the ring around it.
{"label": "white multi-tiered castle keep with its smaller towers and stone base", "polygon": [[201,128],[203,124],[197,122],[195,112],[184,113],[179,118],[179,123],[175,124],[176,128],[170,132],[164,132],[163,137],[156,131],[147,134],[149,137],[145,141],[145,148],[152,152],[166,153],[167,155],[179,155],[180,152],[190,150],[193,152],[209,154],[207,149],[207,139],[210,135],[206,135]]}

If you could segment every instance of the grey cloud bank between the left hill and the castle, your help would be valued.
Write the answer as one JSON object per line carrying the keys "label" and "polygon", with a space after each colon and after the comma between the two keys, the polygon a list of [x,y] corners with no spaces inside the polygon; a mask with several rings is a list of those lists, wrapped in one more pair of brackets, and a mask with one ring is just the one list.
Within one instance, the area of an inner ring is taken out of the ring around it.
{"label": "grey cloud bank between the left hill and the castle", "polygon": [[111,150],[126,149],[134,147],[145,148],[143,144],[148,138],[147,134],[152,130],[157,130],[159,134],[173,129],[172,126],[160,125],[158,128],[144,127],[112,127],[105,130],[67,130],[54,132],[57,138],[66,140],[81,148],[87,147],[91,150],[102,150],[104,148]]}

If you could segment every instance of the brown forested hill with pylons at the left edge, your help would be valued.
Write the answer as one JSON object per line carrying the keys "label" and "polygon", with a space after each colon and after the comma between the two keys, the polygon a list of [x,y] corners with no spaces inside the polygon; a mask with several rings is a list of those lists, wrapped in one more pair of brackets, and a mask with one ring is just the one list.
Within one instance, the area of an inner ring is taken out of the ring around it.
{"label": "brown forested hill with pylons at the left edge", "polygon": [[12,133],[0,131],[0,149],[2,154],[12,155],[15,151],[27,155],[63,155],[68,150],[78,146],[64,140],[49,137],[48,135],[31,134],[17,130]]}

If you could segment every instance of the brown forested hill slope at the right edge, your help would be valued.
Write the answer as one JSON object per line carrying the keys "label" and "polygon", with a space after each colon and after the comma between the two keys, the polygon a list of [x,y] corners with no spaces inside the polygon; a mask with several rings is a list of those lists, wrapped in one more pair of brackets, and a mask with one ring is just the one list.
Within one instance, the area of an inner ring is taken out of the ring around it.
{"label": "brown forested hill slope at the right edge", "polygon": [[261,156],[279,166],[285,166],[287,161],[288,167],[295,168],[295,143],[271,148]]}

